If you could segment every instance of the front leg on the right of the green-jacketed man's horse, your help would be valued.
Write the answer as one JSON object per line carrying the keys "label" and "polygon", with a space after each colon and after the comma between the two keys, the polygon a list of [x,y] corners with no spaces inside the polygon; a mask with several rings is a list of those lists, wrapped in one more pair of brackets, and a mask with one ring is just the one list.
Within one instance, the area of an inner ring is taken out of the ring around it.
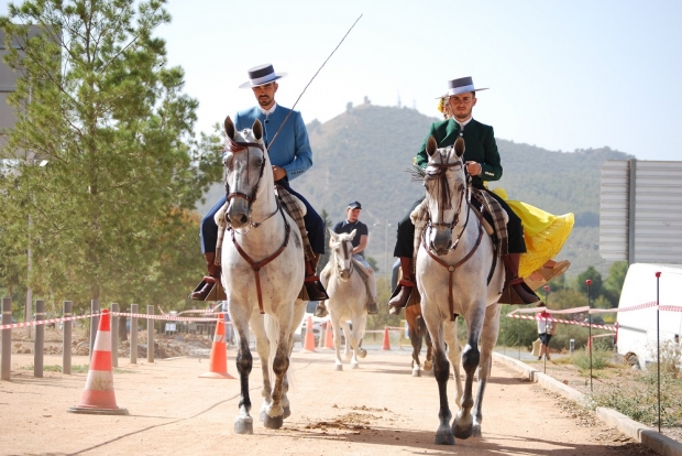
{"label": "front leg on the right of the green-jacketed man's horse", "polygon": [[469,329],[469,338],[466,347],[462,351],[462,367],[466,373],[464,381],[464,395],[462,397],[462,408],[454,417],[452,432],[458,438],[469,438],[473,434],[473,417],[471,409],[474,405],[472,387],[474,374],[479,368],[481,352],[479,351],[479,338],[483,328],[485,318],[485,302],[472,302],[471,312],[466,315],[466,326]]}

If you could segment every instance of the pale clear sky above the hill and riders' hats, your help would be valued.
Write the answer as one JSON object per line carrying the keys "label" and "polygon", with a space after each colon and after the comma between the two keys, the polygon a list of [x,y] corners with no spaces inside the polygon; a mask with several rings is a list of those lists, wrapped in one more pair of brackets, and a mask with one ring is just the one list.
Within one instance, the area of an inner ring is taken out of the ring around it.
{"label": "pale clear sky above the hill and riders' hats", "polygon": [[168,10],[158,34],[200,102],[199,130],[255,104],[238,86],[258,64],[289,74],[277,101],[292,107],[363,14],[299,101],[306,122],[365,96],[438,116],[447,82],[472,76],[490,87],[474,117],[499,139],[682,160],[680,1],[170,0]]}

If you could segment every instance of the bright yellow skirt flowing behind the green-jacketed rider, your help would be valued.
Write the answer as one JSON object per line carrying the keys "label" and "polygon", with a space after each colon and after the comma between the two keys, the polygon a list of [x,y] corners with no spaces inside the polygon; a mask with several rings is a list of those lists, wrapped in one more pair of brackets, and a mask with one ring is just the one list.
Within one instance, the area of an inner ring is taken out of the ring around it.
{"label": "bright yellow skirt flowing behind the green-jacketed rider", "polygon": [[559,253],[573,229],[573,214],[556,216],[527,203],[508,199],[504,188],[493,192],[512,207],[524,224],[527,251],[521,254],[518,274],[526,279]]}

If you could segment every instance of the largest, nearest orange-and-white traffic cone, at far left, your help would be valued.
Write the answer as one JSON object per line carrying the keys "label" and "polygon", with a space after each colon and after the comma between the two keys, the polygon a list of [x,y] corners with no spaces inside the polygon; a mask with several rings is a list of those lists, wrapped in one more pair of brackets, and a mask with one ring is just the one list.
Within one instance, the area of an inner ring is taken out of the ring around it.
{"label": "largest, nearest orange-and-white traffic cone, at far left", "polygon": [[86,388],[78,405],[67,410],[68,413],[89,413],[95,415],[128,415],[128,410],[116,404],[113,394],[113,368],[111,362],[111,325],[109,310],[102,310],[99,328],[95,336],[95,347],[90,359],[90,369]]}

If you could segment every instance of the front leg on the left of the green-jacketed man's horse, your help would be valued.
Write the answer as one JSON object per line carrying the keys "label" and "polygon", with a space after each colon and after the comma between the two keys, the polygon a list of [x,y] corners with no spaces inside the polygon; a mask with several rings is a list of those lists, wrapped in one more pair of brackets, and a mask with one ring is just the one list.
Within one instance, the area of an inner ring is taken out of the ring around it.
{"label": "front leg on the left of the green-jacketed man's horse", "polygon": [[[424,313],[424,301],[421,305]],[[436,381],[438,382],[438,395],[440,398],[440,410],[438,411],[440,424],[436,431],[436,438],[433,439],[433,443],[437,445],[454,445],[454,437],[452,436],[452,430],[450,428],[450,420],[452,419],[452,414],[450,413],[450,406],[448,405],[448,378],[450,377],[450,362],[448,362],[448,357],[446,356],[443,324],[438,315],[438,310],[433,308],[433,315],[427,316],[425,314],[425,322],[433,339],[433,377],[436,377]]]}

